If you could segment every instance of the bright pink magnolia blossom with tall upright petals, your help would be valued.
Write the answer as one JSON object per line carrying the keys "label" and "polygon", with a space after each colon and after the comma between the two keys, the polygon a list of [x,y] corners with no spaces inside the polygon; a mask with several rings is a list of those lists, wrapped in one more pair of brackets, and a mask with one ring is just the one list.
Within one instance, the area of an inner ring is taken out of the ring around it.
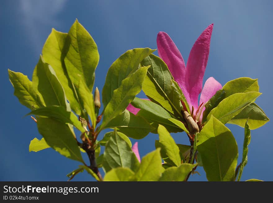
{"label": "bright pink magnolia blossom with tall upright petals", "polygon": [[[202,89],[212,30],[213,24],[209,25],[196,40],[190,51],[187,65],[185,65],[180,51],[170,36],[165,32],[159,32],[157,35],[159,57],[167,64],[174,80],[180,86],[190,109],[193,109],[192,115],[197,121],[202,121],[205,110],[204,104],[218,90],[222,89],[222,85],[213,77],[207,79]],[[198,102],[200,93],[200,100]],[[132,105],[129,105],[127,109],[135,114],[139,111],[139,109],[135,109]],[[198,109],[200,111],[196,115]]]}

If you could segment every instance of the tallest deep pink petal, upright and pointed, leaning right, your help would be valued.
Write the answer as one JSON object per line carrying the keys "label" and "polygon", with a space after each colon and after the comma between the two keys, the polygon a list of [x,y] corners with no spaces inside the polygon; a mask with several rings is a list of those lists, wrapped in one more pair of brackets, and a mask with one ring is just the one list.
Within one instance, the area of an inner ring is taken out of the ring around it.
{"label": "tallest deep pink petal, upright and pointed, leaning right", "polygon": [[203,77],[208,62],[209,45],[213,24],[209,25],[196,40],[187,61],[185,83],[191,104],[198,108],[198,96],[202,91]]}

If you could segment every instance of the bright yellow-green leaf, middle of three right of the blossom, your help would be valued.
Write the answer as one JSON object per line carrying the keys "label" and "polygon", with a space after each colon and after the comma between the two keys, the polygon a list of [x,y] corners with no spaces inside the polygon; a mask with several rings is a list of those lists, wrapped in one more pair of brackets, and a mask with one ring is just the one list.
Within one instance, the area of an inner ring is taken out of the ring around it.
{"label": "bright yellow-green leaf, middle of three right of the blossom", "polygon": [[260,92],[235,93],[223,99],[216,108],[208,114],[208,119],[213,115],[223,124],[239,114],[247,105],[253,103],[260,96]]}

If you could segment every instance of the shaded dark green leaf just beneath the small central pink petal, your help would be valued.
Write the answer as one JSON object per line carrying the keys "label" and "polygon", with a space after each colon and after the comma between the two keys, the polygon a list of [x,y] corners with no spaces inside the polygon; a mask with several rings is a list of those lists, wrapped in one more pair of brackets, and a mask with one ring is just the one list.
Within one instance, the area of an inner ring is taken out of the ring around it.
{"label": "shaded dark green leaf just beneath the small central pink petal", "polygon": [[142,139],[153,129],[153,127],[142,117],[135,116],[125,110],[119,116],[112,119],[105,128],[117,127],[119,132],[134,139]]}

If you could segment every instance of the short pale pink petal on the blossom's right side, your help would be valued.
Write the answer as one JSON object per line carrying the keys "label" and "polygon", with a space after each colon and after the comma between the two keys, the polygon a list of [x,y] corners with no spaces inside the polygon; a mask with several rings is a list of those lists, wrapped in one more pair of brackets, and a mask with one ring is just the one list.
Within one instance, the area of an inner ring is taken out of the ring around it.
{"label": "short pale pink petal on the blossom's right side", "polygon": [[[222,89],[222,85],[215,80],[213,77],[209,77],[208,80],[205,82],[204,84],[204,88],[201,92],[201,96],[200,96],[200,101],[199,104],[202,104],[202,102],[204,102],[204,104],[207,103],[207,101],[213,97],[213,95],[215,95],[215,93],[218,90]],[[203,108],[201,116],[200,116],[200,121],[202,121],[202,117],[203,117],[203,112],[204,112],[205,108]]]}

